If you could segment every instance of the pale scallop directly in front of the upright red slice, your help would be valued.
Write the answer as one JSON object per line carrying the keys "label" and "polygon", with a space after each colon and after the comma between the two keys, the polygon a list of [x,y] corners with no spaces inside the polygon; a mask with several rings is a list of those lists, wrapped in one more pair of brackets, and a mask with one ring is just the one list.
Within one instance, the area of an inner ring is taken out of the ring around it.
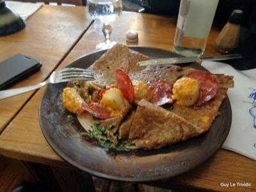
{"label": "pale scallop directly in front of the upright red slice", "polygon": [[111,108],[114,111],[120,111],[125,108],[124,97],[118,88],[109,88],[102,95],[100,105]]}

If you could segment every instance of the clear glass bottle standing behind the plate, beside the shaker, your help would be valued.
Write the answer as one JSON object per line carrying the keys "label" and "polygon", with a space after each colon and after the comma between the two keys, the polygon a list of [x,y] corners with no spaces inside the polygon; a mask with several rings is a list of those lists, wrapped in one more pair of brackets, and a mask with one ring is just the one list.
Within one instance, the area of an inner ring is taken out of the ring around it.
{"label": "clear glass bottle standing behind the plate, beside the shaker", "polygon": [[219,0],[181,0],[174,51],[202,56]]}

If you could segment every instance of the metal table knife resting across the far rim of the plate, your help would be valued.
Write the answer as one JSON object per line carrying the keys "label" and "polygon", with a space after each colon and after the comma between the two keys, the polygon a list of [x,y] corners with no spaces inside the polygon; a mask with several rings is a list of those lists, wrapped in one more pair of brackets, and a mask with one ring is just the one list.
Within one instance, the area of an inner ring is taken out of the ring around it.
{"label": "metal table knife resting across the far rim of the plate", "polygon": [[159,58],[155,60],[140,61],[138,65],[148,66],[148,65],[173,65],[179,63],[192,63],[195,61],[223,61],[223,60],[235,60],[241,59],[243,56],[240,54],[225,54],[221,56],[211,56],[211,57],[180,57],[180,58]]}

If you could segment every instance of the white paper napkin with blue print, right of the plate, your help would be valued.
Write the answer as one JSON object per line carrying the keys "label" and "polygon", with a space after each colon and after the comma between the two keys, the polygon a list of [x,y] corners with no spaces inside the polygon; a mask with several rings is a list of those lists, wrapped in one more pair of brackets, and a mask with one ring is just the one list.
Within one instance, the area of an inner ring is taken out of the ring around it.
{"label": "white paper napkin with blue print, right of the plate", "polygon": [[223,148],[256,160],[256,68],[239,71],[213,61],[202,65],[214,74],[234,76],[234,88],[228,90],[232,124]]}

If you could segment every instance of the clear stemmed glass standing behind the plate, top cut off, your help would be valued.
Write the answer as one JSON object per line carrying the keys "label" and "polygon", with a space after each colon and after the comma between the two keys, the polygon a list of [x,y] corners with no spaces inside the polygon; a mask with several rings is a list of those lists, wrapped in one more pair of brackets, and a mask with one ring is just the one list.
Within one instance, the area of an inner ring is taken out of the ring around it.
{"label": "clear stemmed glass standing behind the plate, top cut off", "polygon": [[111,22],[122,14],[122,0],[87,0],[87,8],[95,22],[102,24],[105,42],[96,46],[96,49],[109,49],[116,44],[110,39],[112,33]]}

